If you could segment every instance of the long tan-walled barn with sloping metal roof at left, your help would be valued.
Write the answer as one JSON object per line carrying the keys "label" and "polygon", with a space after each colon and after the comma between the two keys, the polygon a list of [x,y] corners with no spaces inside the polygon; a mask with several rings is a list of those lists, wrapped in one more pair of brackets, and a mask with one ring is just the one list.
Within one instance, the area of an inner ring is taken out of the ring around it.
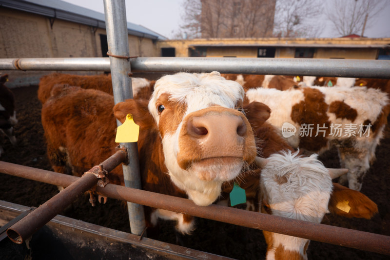
{"label": "long tan-walled barn with sloping metal roof at left", "polygon": [[[65,1],[0,0],[0,59],[108,57],[105,28],[104,14]],[[127,28],[130,56],[159,56],[156,41],[165,37],[131,22]],[[50,72],[2,73],[12,87],[38,83]]]}

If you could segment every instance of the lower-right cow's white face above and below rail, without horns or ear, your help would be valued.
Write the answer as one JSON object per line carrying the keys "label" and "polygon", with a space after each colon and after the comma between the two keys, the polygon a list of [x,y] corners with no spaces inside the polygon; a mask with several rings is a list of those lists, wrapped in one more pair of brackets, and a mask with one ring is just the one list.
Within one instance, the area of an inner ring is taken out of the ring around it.
{"label": "lower-right cow's white face above and below rail, without horns or ear", "polygon": [[[291,151],[273,154],[262,165],[261,212],[320,223],[328,210],[332,181],[316,155],[300,157]],[[267,259],[307,259],[310,240],[263,231]]]}

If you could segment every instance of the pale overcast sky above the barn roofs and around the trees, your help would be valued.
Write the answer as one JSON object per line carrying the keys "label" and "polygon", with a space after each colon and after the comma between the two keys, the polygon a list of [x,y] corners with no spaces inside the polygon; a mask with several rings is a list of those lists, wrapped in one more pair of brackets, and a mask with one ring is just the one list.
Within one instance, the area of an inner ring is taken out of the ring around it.
{"label": "pale overcast sky above the barn roofs and around the trees", "polygon": [[[104,14],[103,0],[64,0]],[[126,0],[127,21],[140,24],[167,38],[172,38],[180,26],[184,0]],[[366,28],[365,36],[370,38],[390,38],[390,0],[376,23]],[[361,32],[357,32],[361,33]],[[331,23],[320,37],[338,37],[331,29]]]}

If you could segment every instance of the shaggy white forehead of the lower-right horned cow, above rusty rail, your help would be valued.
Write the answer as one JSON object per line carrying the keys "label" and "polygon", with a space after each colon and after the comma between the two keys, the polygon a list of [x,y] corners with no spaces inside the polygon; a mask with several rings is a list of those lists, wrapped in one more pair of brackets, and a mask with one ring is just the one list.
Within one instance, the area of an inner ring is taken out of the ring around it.
{"label": "shaggy white forehead of the lower-right horned cow, above rusty rail", "polygon": [[273,215],[320,222],[328,212],[332,181],[317,155],[300,157],[291,151],[274,154],[261,171]]}

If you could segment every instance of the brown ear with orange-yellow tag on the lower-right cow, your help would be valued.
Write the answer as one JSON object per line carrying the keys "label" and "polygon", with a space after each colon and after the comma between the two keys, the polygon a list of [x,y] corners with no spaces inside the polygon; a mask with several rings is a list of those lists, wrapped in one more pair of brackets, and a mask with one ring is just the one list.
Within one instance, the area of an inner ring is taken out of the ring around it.
{"label": "brown ear with orange-yellow tag on the lower-right cow", "polygon": [[378,213],[378,206],[361,192],[333,183],[328,204],[329,211],[347,218],[371,219]]}

